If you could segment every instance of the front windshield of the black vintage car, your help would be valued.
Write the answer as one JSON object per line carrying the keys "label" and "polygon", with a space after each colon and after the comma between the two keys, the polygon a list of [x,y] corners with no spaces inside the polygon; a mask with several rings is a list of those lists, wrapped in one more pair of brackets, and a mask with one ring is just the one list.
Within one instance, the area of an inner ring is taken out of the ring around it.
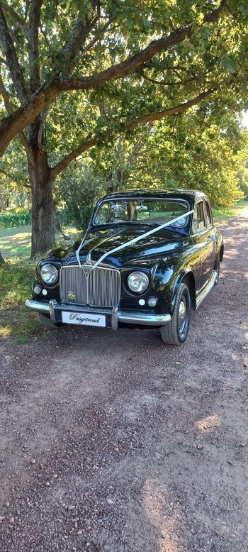
{"label": "front windshield of the black vintage car", "polygon": [[163,199],[113,199],[100,204],[94,217],[94,224],[115,222],[164,224],[181,216],[171,226],[184,228],[188,223],[186,202]]}

